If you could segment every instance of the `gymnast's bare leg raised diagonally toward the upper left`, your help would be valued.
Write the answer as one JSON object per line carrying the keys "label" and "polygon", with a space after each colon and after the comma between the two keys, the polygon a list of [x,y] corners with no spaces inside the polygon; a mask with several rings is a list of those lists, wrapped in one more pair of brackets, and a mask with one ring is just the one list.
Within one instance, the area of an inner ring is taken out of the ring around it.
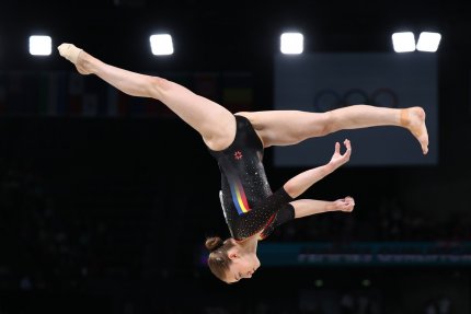
{"label": "gymnast's bare leg raised diagonally toward the upper left", "polygon": [[233,141],[236,119],[219,104],[172,81],[106,65],[71,44],[62,44],[58,49],[60,55],[69,59],[81,74],[95,74],[131,96],[161,101],[198,131],[210,149],[222,150]]}

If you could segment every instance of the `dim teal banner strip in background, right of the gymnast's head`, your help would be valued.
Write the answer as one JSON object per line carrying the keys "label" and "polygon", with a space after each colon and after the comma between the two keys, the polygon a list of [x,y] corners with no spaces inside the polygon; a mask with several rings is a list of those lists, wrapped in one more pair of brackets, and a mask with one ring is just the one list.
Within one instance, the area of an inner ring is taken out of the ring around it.
{"label": "dim teal banner strip in background, right of the gymnast's head", "polygon": [[265,266],[469,266],[470,243],[359,242],[266,243],[259,257]]}

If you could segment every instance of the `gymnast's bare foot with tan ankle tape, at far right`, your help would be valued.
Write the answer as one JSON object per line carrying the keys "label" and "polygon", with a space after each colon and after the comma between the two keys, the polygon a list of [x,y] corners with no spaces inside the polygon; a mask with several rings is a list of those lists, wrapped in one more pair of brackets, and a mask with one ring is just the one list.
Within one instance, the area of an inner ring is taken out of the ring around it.
{"label": "gymnast's bare foot with tan ankle tape, at far right", "polygon": [[407,128],[418,140],[422,152],[428,152],[428,132],[425,126],[425,112],[422,107],[411,107],[401,111],[401,125]]}

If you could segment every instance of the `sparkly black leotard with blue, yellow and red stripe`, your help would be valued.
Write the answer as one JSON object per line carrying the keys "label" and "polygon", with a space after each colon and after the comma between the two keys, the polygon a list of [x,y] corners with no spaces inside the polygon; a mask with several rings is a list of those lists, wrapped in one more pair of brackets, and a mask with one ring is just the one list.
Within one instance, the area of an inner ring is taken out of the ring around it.
{"label": "sparkly black leotard with blue, yellow and red stripe", "polygon": [[275,193],[263,167],[263,143],[249,119],[236,115],[233,142],[222,151],[212,151],[221,172],[219,194],[231,236],[242,241],[259,232],[260,240],[294,219],[292,198],[282,187]]}

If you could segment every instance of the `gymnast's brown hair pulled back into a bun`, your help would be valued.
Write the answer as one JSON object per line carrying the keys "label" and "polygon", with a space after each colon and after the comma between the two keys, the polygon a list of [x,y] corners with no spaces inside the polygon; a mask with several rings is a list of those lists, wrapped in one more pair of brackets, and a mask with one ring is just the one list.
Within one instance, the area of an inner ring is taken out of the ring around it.
{"label": "gymnast's brown hair pulled back into a bun", "polygon": [[228,256],[228,251],[234,246],[232,241],[222,241],[219,236],[206,239],[206,248],[210,252],[208,257],[208,266],[211,272],[220,280],[226,279],[226,272],[232,260]]}

